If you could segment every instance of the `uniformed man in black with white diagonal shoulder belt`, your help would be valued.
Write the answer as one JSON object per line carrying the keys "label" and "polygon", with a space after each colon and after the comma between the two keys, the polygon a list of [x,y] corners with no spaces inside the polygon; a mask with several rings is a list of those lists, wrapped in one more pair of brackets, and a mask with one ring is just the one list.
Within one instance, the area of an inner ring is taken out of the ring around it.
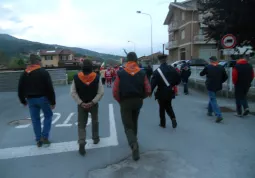
{"label": "uniformed man in black with white diagonal shoulder belt", "polygon": [[166,127],[166,112],[172,120],[172,127],[176,128],[177,122],[172,107],[172,99],[175,97],[174,86],[180,84],[181,77],[174,67],[167,65],[166,55],[161,55],[158,58],[161,65],[152,75],[151,90],[153,92],[155,87],[158,86],[155,97],[159,103],[159,126],[162,128]]}

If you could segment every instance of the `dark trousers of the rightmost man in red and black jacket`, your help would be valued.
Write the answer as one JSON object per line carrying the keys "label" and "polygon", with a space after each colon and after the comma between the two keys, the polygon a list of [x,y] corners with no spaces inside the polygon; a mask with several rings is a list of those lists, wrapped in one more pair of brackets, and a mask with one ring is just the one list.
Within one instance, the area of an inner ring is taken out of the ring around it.
{"label": "dark trousers of the rightmost man in red and black jacket", "polygon": [[247,93],[249,89],[245,88],[235,88],[235,99],[236,99],[236,111],[237,114],[242,115],[243,109],[249,109],[248,101],[247,101]]}

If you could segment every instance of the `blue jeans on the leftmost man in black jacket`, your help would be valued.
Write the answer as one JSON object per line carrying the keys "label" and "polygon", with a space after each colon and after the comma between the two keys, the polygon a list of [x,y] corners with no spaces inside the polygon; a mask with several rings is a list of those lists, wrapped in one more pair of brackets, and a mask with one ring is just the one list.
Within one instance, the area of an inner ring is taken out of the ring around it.
{"label": "blue jeans on the leftmost man in black jacket", "polygon": [[[48,99],[46,97],[29,98],[28,105],[29,105],[29,111],[30,111],[30,115],[32,119],[36,141],[39,141],[41,137],[48,139],[49,132],[51,129],[52,116],[53,116]],[[43,111],[43,114],[44,114],[43,131],[41,131],[42,130],[41,118],[40,118],[41,110]]]}

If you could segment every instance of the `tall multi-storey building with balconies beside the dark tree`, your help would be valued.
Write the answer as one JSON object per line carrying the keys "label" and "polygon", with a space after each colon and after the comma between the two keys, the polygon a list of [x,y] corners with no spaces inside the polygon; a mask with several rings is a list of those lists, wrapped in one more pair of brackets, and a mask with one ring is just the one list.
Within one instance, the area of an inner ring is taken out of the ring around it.
{"label": "tall multi-storey building with balconies beside the dark tree", "polygon": [[170,3],[164,25],[168,25],[169,60],[209,59],[218,56],[216,41],[204,35],[206,26],[197,9],[197,0]]}

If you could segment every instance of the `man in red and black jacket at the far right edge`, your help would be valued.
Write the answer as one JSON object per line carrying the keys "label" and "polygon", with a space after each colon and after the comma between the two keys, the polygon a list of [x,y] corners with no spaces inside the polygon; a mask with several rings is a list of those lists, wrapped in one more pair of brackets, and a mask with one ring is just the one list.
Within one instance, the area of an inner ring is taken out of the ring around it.
{"label": "man in red and black jacket at the far right edge", "polygon": [[[252,65],[246,59],[238,60],[232,70],[232,80],[235,85],[236,111],[239,117],[246,116],[250,112],[247,93],[249,92],[253,78],[254,70]],[[244,112],[242,112],[242,107]]]}

